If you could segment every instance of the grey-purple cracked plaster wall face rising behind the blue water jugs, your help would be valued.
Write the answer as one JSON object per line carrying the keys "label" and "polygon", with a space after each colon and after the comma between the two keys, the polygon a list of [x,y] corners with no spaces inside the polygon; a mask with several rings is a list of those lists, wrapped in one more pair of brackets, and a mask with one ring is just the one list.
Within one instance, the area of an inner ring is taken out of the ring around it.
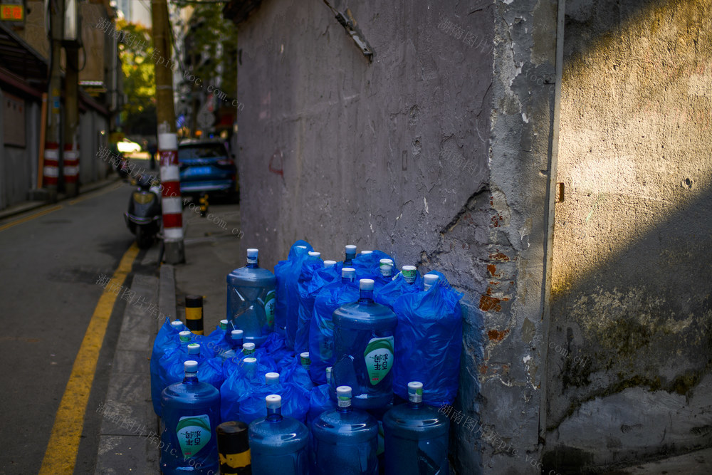
{"label": "grey-purple cracked plaster wall face rising behind the blue water jugs", "polygon": [[[494,6],[332,3],[350,7],[373,63],[323,2],[264,1],[239,26],[241,242],[261,249],[267,268],[295,239],[307,239],[328,259],[342,259],[351,243],[382,249],[399,265],[444,271],[468,302],[458,404],[475,419],[478,306],[493,252]],[[506,416],[505,401],[490,404]],[[453,444],[461,473],[471,474],[480,461],[466,420]]]}

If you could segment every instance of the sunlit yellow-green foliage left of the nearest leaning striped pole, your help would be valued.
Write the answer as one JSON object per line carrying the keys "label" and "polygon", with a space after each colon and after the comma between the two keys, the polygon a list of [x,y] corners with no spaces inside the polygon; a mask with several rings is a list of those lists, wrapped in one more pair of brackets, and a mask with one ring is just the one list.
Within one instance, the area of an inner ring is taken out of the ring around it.
{"label": "sunlit yellow-green foliage left of the nearest leaning striped pole", "polygon": [[122,108],[125,132],[155,135],[156,78],[150,55],[153,46],[151,30],[125,19],[116,21],[116,29],[127,34],[127,39],[119,43],[124,93],[127,96]]}

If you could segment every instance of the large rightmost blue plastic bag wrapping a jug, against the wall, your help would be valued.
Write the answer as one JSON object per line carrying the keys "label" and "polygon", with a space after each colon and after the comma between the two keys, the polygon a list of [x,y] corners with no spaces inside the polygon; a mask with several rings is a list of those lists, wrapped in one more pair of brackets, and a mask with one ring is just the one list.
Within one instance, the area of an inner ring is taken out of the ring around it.
{"label": "large rightmost blue plastic bag wrapping a jug, against the wall", "polygon": [[407,293],[394,303],[398,325],[394,335],[393,391],[408,397],[408,383],[423,383],[423,402],[452,404],[457,395],[462,353],[461,294],[445,276],[427,291]]}

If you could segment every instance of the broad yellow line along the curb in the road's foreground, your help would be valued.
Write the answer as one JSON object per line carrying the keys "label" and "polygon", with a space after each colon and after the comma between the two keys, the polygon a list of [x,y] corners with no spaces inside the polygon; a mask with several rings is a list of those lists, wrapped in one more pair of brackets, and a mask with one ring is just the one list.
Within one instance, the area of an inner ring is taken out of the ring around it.
{"label": "broad yellow line along the curb in the road's foreground", "polygon": [[[137,254],[138,247],[134,243],[121,258],[119,267],[111,278],[111,281],[119,288],[131,271]],[[84,426],[84,415],[89,393],[94,382],[96,362],[99,358],[99,350],[101,350],[101,345],[104,341],[104,334],[106,333],[111,311],[117,298],[116,294],[109,290],[110,288],[112,288],[112,285],[108,283],[99,298],[99,303],[89,321],[89,327],[84,335],[84,340],[82,340],[79,353],[74,360],[72,374],[59,403],[52,434],[42,460],[42,466],[39,471],[41,475],[71,474],[74,471],[79,441]]]}

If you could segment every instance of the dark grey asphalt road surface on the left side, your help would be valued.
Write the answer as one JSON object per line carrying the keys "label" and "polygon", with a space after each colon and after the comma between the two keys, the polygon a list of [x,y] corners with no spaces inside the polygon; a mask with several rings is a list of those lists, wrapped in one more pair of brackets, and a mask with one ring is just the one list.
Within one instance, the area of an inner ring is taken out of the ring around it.
{"label": "dark grey asphalt road surface on the left side", "polygon": [[[96,282],[102,274],[112,275],[133,241],[122,217],[132,189],[119,182],[0,221],[1,474],[40,469],[75,357],[103,292]],[[46,214],[36,216],[40,212]],[[140,268],[142,254],[133,273],[155,273],[155,268]],[[123,310],[124,301],[117,299],[89,408],[105,398]],[[77,474],[93,472],[99,424],[100,414],[88,409]]]}

